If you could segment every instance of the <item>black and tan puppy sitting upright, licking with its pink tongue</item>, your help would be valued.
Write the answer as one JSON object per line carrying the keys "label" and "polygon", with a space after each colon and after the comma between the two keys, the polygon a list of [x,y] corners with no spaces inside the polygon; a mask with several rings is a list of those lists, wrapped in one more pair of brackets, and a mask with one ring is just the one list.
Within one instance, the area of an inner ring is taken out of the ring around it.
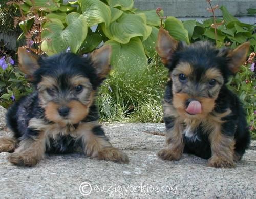
{"label": "black and tan puppy sitting upright, licking with its pink tongue", "polygon": [[188,152],[209,159],[209,166],[229,168],[241,159],[250,142],[246,115],[225,84],[248,49],[248,42],[234,50],[202,41],[186,46],[159,31],[156,50],[170,78],[163,101],[167,132],[161,159],[179,160]]}

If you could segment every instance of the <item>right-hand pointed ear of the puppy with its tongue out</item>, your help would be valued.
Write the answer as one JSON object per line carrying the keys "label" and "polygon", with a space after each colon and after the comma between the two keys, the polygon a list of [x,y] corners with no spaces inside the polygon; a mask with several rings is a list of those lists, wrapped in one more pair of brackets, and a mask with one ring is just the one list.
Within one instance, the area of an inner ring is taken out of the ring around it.
{"label": "right-hand pointed ear of the puppy with its tongue out", "polygon": [[239,45],[236,49],[232,50],[227,57],[230,57],[229,69],[232,73],[237,73],[241,65],[246,61],[247,53],[250,48],[250,42]]}

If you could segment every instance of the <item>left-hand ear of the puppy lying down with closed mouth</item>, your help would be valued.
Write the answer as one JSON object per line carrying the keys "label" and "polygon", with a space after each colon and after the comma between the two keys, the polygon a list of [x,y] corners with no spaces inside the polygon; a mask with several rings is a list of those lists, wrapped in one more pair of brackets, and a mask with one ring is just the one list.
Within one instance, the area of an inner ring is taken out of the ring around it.
{"label": "left-hand ear of the puppy lying down with closed mouth", "polygon": [[32,80],[33,73],[39,69],[38,57],[27,51],[26,49],[18,48],[18,63],[19,69],[25,73],[30,80]]}

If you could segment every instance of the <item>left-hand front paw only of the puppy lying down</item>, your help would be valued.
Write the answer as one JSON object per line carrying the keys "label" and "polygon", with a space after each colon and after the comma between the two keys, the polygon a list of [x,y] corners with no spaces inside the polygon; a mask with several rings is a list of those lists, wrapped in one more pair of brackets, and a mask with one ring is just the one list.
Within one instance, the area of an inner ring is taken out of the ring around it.
{"label": "left-hand front paw only of the puppy lying down", "polygon": [[26,167],[31,167],[35,166],[39,160],[34,158],[34,157],[29,157],[24,154],[20,153],[12,153],[8,157],[8,160],[10,163],[17,165],[17,166],[26,166]]}

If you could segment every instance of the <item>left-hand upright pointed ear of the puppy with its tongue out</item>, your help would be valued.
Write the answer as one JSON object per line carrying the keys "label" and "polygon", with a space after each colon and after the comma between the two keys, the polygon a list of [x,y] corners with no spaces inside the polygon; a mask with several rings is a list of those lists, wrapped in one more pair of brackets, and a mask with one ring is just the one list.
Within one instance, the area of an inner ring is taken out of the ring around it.
{"label": "left-hand upright pointed ear of the puppy with its tongue out", "polygon": [[169,35],[168,31],[162,28],[159,30],[156,51],[164,65],[167,65],[172,60],[173,53],[176,51],[178,43],[178,41]]}

